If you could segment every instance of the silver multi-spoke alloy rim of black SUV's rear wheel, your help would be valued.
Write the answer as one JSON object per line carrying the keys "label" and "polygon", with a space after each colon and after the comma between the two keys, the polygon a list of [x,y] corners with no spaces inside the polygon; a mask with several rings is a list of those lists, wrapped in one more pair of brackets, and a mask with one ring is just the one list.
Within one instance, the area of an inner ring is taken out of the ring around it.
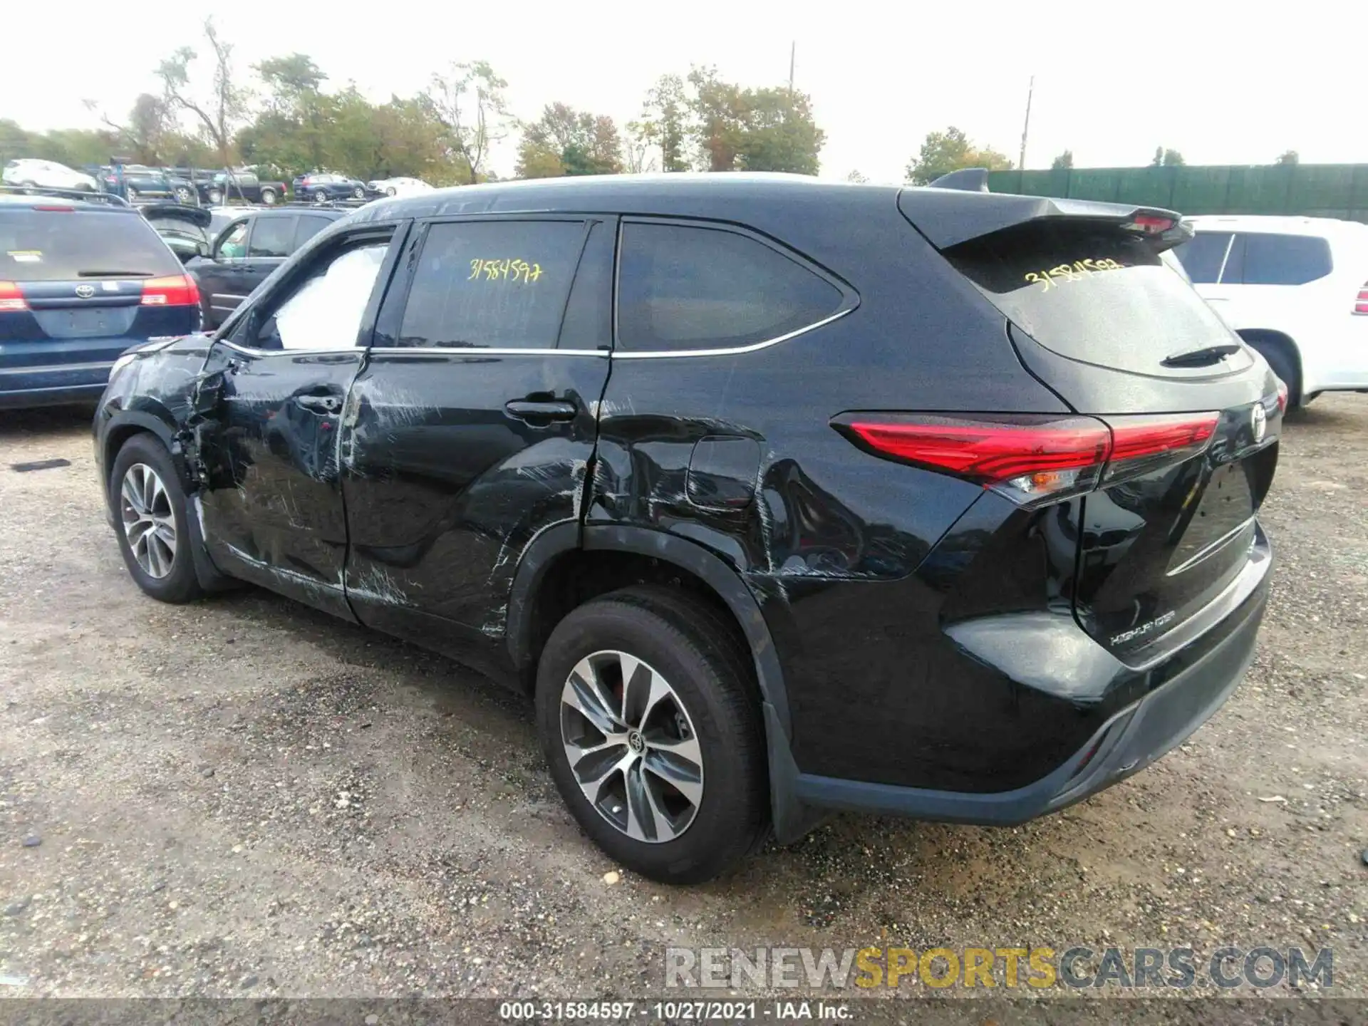
{"label": "silver multi-spoke alloy rim of black SUV's rear wheel", "polygon": [[637,841],[672,841],[703,800],[703,754],[679,692],[628,653],[580,659],[561,689],[561,743],[599,815]]}

